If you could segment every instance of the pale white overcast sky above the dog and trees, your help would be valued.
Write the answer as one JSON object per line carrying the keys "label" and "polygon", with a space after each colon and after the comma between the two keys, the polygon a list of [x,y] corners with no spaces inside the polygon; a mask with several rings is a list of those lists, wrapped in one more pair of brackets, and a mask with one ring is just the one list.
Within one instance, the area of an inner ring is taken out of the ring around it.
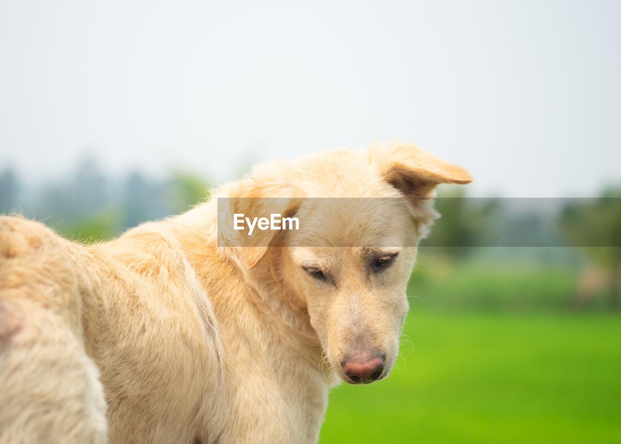
{"label": "pale white overcast sky above the dog and trees", "polygon": [[251,163],[373,140],[471,195],[621,183],[621,2],[0,2],[0,170]]}

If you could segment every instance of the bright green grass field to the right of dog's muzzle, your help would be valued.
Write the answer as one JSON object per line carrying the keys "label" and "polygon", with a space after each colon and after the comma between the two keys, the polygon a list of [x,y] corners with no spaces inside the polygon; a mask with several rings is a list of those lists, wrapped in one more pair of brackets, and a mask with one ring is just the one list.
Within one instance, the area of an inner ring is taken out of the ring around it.
{"label": "bright green grass field to the right of dog's muzzle", "polygon": [[386,380],[330,391],[320,443],[619,443],[621,317],[410,301]]}

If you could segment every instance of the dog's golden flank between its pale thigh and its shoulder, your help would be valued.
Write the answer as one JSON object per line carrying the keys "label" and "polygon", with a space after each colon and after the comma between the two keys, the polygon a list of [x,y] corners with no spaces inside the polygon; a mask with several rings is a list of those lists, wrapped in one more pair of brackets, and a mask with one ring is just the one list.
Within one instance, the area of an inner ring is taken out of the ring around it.
{"label": "dog's golden flank between its pale thigh and its shoulder", "polygon": [[106,387],[111,442],[214,442],[225,414],[222,345],[178,236],[147,223],[84,258],[86,351]]}

